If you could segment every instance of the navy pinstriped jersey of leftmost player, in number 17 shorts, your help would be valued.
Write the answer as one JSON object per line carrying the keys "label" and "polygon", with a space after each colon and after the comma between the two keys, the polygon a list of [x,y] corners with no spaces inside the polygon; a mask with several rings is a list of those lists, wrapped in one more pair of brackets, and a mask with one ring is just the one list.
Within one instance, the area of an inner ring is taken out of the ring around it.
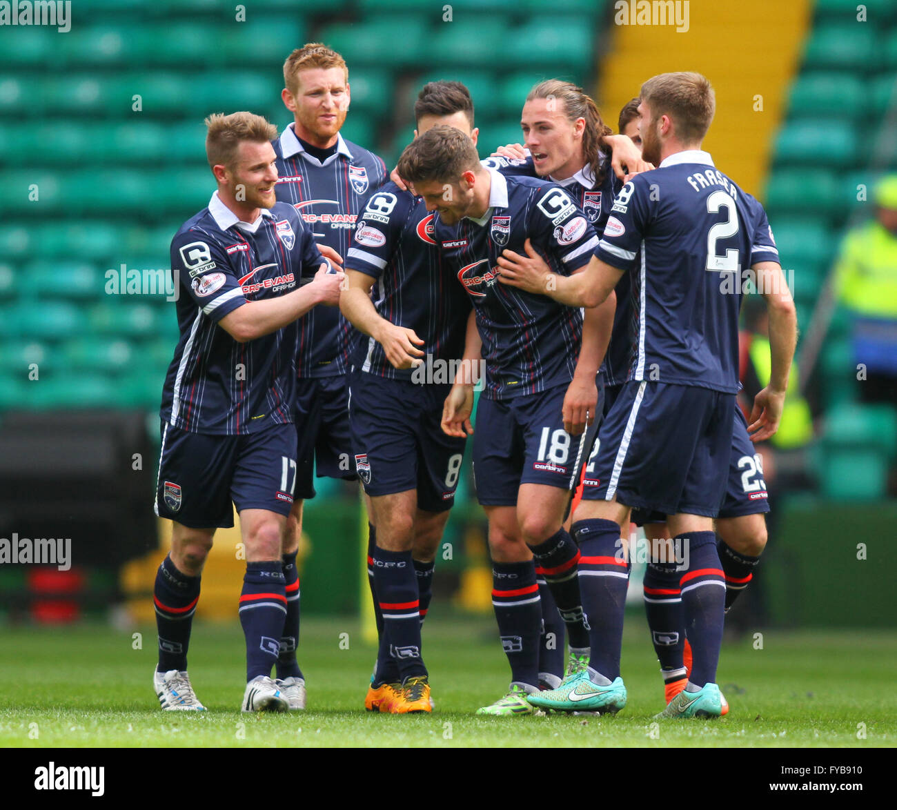
{"label": "navy pinstriped jersey of leftmost player, in number 17 shorts", "polygon": [[180,338],[161,418],[182,431],[235,435],[293,421],[297,323],[238,343],[217,326],[247,301],[295,290],[324,261],[292,205],[239,222],[213,194],[171,240]]}

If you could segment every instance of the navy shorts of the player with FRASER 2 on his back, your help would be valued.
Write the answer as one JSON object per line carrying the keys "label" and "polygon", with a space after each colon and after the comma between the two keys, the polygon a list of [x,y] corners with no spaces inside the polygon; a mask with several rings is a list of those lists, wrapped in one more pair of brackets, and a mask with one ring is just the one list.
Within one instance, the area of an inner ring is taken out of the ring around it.
{"label": "navy shorts of the player with FRASER 2 on his back", "polygon": [[735,395],[629,381],[598,433],[584,501],[716,518],[726,492]]}

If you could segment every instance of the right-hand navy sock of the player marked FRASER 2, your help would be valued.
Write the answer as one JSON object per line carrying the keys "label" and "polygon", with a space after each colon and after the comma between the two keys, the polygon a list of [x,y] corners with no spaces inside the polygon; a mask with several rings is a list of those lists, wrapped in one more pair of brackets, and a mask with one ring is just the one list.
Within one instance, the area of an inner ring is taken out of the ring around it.
{"label": "right-hand navy sock of the player marked FRASER 2", "polygon": [[[692,645],[690,684],[715,684],[719,648],[723,640],[726,580],[713,532],[692,532],[675,537],[677,556],[684,554],[688,567],[679,579],[685,615],[685,632]],[[681,552],[680,552],[681,550]]]}

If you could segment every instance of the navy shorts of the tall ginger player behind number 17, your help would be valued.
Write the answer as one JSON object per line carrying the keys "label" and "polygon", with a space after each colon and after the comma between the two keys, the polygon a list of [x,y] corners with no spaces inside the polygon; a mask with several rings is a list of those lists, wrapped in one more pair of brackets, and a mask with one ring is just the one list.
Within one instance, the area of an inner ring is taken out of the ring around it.
{"label": "navy shorts of the tall ginger player behind number 17", "polygon": [[318,478],[352,481],[355,465],[349,432],[349,389],[345,377],[300,378],[296,384],[296,498],[315,497]]}

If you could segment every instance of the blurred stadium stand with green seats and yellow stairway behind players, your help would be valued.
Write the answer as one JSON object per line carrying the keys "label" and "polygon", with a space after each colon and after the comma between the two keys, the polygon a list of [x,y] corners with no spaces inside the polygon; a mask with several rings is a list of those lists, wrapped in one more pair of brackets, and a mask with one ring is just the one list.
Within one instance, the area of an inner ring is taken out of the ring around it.
{"label": "blurred stadium stand with green seats and yellow stairway behind players", "polygon": [[[897,524],[897,403],[893,382],[890,397],[886,387],[869,396],[855,347],[869,318],[893,339],[897,237],[879,234],[875,253],[891,261],[890,282],[834,281],[845,235],[867,228],[876,182],[897,171],[897,4],[868,0],[861,21],[853,0],[692,0],[683,32],[616,24],[615,5],[248,0],[238,22],[242,6],[217,0],[78,0],[67,33],[0,27],[0,537],[73,538],[71,570],[0,565],[6,621],[68,623],[110,608],[121,623],[152,619],[168,531],[152,517],[157,412],[178,329],[164,291],[109,294],[107,272],[168,267],[171,236],[213,190],[205,115],[249,109],[283,129],[283,59],[322,41],[349,65],[344,135],[388,165],[430,79],[470,88],[484,156],[520,140],[522,101],[541,79],[581,83],[615,129],[650,75],[710,78],[718,113],[706,146],[767,206],[803,331],[797,409],[763,449],[771,540],[731,623],[893,626],[883,561]],[[753,341],[762,347],[762,332]],[[762,354],[748,343],[745,365]],[[358,614],[358,488],[319,483],[306,509],[303,611]],[[484,529],[466,481],[438,558],[437,605],[491,610]],[[217,536],[200,616],[236,618],[237,544],[236,530]]]}

